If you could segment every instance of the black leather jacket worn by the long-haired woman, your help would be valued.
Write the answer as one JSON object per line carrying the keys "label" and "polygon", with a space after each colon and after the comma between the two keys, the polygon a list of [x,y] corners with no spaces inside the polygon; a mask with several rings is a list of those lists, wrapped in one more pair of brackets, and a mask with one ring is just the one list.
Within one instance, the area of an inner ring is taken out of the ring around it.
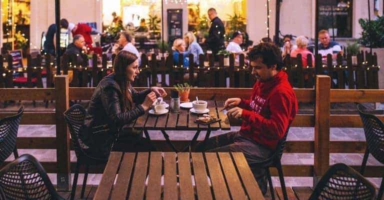
{"label": "black leather jacket worn by the long-haired woman", "polygon": [[120,128],[140,115],[144,114],[144,108],[140,105],[150,89],[136,91],[130,88],[134,105],[131,109],[122,112],[122,93],[114,73],[105,76],[95,88],[87,109],[83,129],[80,131],[80,139],[92,151],[107,156],[116,133]]}

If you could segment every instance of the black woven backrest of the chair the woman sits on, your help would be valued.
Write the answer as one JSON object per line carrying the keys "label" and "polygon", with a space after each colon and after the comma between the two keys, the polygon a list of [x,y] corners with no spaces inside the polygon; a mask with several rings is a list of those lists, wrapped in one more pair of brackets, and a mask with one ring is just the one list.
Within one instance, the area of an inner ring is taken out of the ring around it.
{"label": "black woven backrest of the chair the woman sits on", "polygon": [[81,149],[78,134],[81,126],[84,125],[85,115],[86,115],[86,110],[80,104],[74,104],[64,112],[64,118],[66,123],[68,124],[71,141],[72,141],[77,159],[79,159],[79,157],[84,155],[84,152]]}

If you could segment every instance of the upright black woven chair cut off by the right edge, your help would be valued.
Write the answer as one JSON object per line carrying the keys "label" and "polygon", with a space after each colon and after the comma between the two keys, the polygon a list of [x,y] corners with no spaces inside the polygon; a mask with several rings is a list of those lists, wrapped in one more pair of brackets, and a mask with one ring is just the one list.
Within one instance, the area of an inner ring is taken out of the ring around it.
{"label": "upright black woven chair cut off by the right edge", "polygon": [[[361,104],[357,104],[357,111],[360,114],[361,121],[364,125],[366,148],[364,158],[362,159],[360,173],[364,174],[366,161],[369,153],[377,159],[377,161],[384,164],[384,124],[374,116],[364,112]],[[377,199],[382,198],[384,193],[384,176],[381,179],[380,188],[378,190]]]}

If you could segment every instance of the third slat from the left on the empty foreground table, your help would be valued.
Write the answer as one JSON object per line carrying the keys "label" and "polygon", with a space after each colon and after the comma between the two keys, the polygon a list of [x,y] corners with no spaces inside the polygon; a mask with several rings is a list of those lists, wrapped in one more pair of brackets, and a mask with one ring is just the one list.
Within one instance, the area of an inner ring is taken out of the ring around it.
{"label": "third slat from the left on the empty foreground table", "polygon": [[128,199],[143,199],[147,165],[148,152],[138,152]]}

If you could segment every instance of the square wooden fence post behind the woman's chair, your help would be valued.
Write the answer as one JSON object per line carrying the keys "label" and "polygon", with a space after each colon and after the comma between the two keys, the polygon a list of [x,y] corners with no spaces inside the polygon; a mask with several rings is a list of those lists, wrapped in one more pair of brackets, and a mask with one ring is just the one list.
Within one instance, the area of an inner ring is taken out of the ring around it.
{"label": "square wooden fence post behind the woman's chair", "polygon": [[70,153],[69,132],[64,120],[64,111],[69,108],[69,85],[67,75],[55,77],[56,96],[56,156],[57,190],[68,191],[70,188]]}

